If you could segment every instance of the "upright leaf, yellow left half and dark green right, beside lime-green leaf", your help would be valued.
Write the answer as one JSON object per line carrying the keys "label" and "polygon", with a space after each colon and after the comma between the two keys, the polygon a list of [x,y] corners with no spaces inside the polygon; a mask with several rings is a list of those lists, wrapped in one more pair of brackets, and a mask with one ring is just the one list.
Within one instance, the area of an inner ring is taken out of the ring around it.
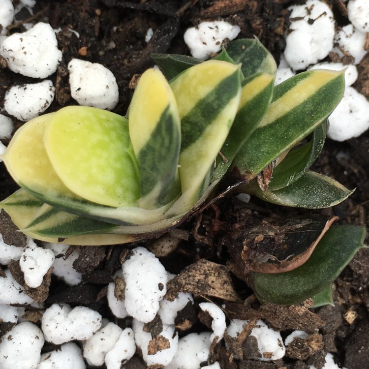
{"label": "upright leaf, yellow left half and dark green right, beside lime-green leaf", "polygon": [[140,170],[138,204],[155,209],[181,191],[181,121],[174,94],[161,72],[149,69],[141,76],[128,114],[129,135]]}

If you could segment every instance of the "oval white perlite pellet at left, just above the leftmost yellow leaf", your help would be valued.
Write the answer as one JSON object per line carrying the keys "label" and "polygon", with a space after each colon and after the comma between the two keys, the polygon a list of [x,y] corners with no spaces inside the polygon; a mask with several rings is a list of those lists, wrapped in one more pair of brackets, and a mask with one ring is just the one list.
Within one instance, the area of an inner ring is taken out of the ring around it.
{"label": "oval white perlite pellet at left, just above the leftmost yellow leaf", "polygon": [[53,102],[55,87],[50,80],[13,86],[5,93],[5,110],[20,121],[29,121],[43,113]]}

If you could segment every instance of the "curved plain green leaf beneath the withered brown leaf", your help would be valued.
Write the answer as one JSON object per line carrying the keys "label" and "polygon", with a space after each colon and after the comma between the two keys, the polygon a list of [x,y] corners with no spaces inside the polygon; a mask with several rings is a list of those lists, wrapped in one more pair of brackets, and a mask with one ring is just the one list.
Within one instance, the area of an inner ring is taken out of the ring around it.
{"label": "curved plain green leaf beneath the withered brown leaf", "polygon": [[250,275],[261,300],[274,304],[298,304],[315,296],[338,277],[361,247],[366,229],[352,225],[332,226],[301,267],[281,274]]}

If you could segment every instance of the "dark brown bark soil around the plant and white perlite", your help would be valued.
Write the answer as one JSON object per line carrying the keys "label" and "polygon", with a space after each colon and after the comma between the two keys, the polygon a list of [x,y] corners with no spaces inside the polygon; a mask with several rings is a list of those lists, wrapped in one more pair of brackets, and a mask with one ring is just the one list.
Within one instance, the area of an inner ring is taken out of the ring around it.
{"label": "dark brown bark soil around the plant and white perlite", "polygon": [[[17,0],[14,0],[17,2]],[[135,75],[154,65],[152,53],[187,54],[183,33],[189,26],[201,20],[223,18],[241,27],[239,37],[256,35],[278,60],[284,47],[283,32],[288,22],[287,6],[304,1],[290,0],[183,0],[183,1],[121,1],[121,0],[37,0],[34,15],[23,14],[24,22],[49,22],[58,34],[63,60],[53,76],[56,98],[49,111],[64,105],[75,104],[68,87],[67,63],[72,58],[99,62],[115,75],[120,88],[120,101],[115,112],[124,115],[132,95]],[[345,8],[341,0],[330,1],[337,18],[347,23]],[[149,43],[145,35],[149,28],[154,36]],[[77,31],[80,38],[70,30]],[[11,32],[24,31],[22,22],[11,26]],[[355,87],[369,97],[369,55],[359,65],[359,80]],[[13,84],[29,82],[31,79],[0,69],[0,104],[5,91]],[[16,127],[22,123],[17,122]],[[7,142],[4,142],[7,144]],[[341,155],[344,153],[344,155]],[[338,155],[340,154],[340,155]],[[356,187],[354,194],[342,204],[326,209],[320,214],[338,215],[341,223],[368,225],[369,219],[369,133],[345,143],[327,140],[325,148],[314,164],[314,170],[327,174],[348,188]],[[0,193],[5,198],[16,189],[16,185],[0,167]],[[348,369],[365,368],[369,362],[369,250],[362,249],[334,283],[335,306],[310,309],[309,302],[293,307],[277,307],[269,304],[260,306],[253,298],[246,283],[236,277],[230,281],[222,271],[229,255],[222,247],[223,230],[230,227],[229,221],[242,212],[253,212],[259,217],[278,215],[291,217],[307,215],[305,210],[277,207],[255,198],[249,204],[228,197],[189,219],[181,230],[171,236],[181,239],[179,246],[169,256],[161,258],[172,273],[183,273],[184,284],[173,283],[172,289],[189,290],[196,294],[197,301],[214,301],[225,305],[228,318],[264,319],[281,331],[283,338],[292,330],[306,330],[310,336],[290,347],[283,360],[264,363],[247,360],[246,343],[224,344],[214,347],[212,361],[219,361],[222,369],[246,368],[294,368],[307,369],[313,364],[322,368],[326,352],[334,354],[339,366]],[[142,243],[151,246],[151,243]],[[83,273],[83,283],[67,286],[54,277],[42,285],[35,298],[44,300],[46,306],[53,303],[83,304],[97,309],[104,317],[112,317],[106,302],[106,286],[112,275],[120,268],[127,246],[104,246],[79,248],[80,257],[74,267]],[[88,261],[87,261],[88,260]],[[196,263],[196,264],[194,264]],[[185,267],[190,266],[184,271]],[[22,282],[17,263],[10,266],[14,276]],[[225,268],[225,267],[224,267]],[[206,276],[216,275],[218,285],[207,283]],[[191,284],[191,278],[203,278],[204,283]],[[225,290],[224,285],[233,283],[235,293]],[[187,284],[186,284],[187,283]],[[50,287],[49,287],[50,284]],[[192,287],[191,287],[192,286]],[[192,288],[192,289],[191,289]],[[45,295],[46,291],[46,295]],[[181,335],[206,329],[209,319],[199,310],[187,307],[176,321]],[[37,321],[39,313],[28,311],[29,318]],[[200,320],[199,320],[200,319]],[[123,324],[123,322],[118,322]],[[9,329],[0,324],[1,333]],[[246,338],[246,337],[245,337]],[[246,339],[245,339],[246,342]],[[50,348],[50,347],[48,347]],[[243,360],[232,360],[234,354]],[[139,355],[125,368],[144,368]]]}

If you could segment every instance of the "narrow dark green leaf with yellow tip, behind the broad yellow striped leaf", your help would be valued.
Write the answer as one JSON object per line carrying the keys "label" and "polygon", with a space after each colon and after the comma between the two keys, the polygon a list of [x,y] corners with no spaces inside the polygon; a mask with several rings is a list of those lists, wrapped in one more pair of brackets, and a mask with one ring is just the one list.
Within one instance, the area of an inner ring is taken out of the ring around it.
{"label": "narrow dark green leaf with yellow tip, behind the broad yellow striped leaf", "polygon": [[266,113],[272,100],[275,75],[257,73],[242,82],[240,106],[218,156],[213,181],[221,179],[232,160]]}

